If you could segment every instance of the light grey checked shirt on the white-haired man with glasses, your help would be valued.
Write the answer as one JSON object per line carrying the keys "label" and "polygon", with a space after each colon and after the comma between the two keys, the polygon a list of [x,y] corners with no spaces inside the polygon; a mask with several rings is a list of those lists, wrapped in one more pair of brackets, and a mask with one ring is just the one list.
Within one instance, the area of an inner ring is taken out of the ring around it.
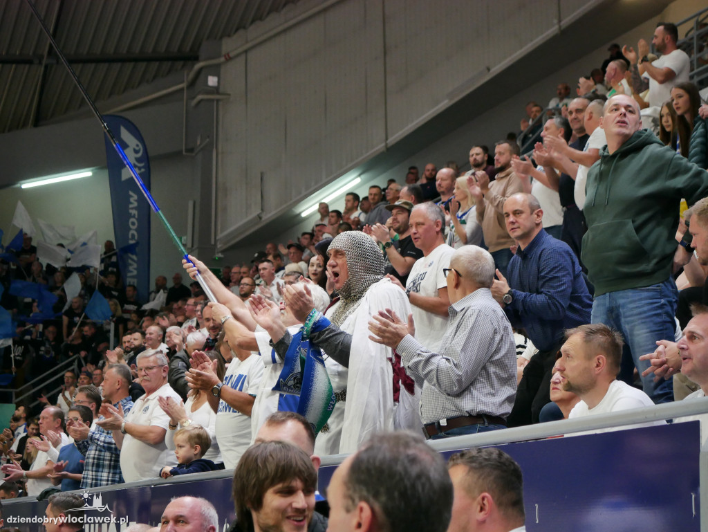
{"label": "light grey checked shirt on the white-haired man with glasses", "polygon": [[459,416],[506,418],[516,395],[516,349],[506,315],[479,288],[450,305],[450,323],[440,353],[407,335],[396,347],[403,365],[420,384],[424,424]]}

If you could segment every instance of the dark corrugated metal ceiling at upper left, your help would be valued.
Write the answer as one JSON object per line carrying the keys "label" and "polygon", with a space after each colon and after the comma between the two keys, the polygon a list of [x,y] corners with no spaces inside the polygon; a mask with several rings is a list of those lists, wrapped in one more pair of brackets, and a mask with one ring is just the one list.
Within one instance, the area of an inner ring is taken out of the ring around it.
{"label": "dark corrugated metal ceiling at upper left", "polygon": [[[183,70],[206,40],[297,0],[34,0],[94,101]],[[85,106],[24,0],[0,0],[0,132]]]}

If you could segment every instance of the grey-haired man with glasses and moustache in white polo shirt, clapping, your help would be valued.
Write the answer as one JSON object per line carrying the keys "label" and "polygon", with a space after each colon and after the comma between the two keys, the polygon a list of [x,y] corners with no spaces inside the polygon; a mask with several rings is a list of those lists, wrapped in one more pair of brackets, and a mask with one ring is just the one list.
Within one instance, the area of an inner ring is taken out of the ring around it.
{"label": "grey-haired man with glasses and moustache in white polo shirt, clapping", "polygon": [[165,465],[177,465],[173,451],[165,445],[170,418],[160,408],[158,397],[181,397],[167,382],[169,361],[164,353],[147,349],[137,356],[137,375],[145,394],[138,397],[130,412],[123,415],[111,404],[101,407],[105,419],[98,425],[113,431],[120,448],[120,470],[125,482],[159,477]]}

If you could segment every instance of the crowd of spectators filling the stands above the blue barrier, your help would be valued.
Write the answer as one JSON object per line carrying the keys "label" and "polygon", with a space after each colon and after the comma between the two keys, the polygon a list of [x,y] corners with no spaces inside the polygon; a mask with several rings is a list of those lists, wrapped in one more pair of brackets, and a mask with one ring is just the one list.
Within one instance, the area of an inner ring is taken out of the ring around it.
{"label": "crowd of spectators filling the stands above the blue barrier", "polygon": [[[392,429],[438,439],[702,397],[708,106],[677,40],[659,23],[660,57],[613,45],[576,97],[561,83],[521,131],[472,146],[469,169],[410,166],[341,210],[320,203],[312,230],[245,264],[190,257],[183,273],[216,302],[182,273],[149,294],[123,286],[110,241],[67,302],[72,271],[25,236],[2,283],[47,285],[61,315],[18,322],[4,368],[19,390],[52,371],[63,384],[16,405],[0,489],[241,468],[277,412],[304,414],[312,456]],[[105,322],[84,312],[95,290]]]}

